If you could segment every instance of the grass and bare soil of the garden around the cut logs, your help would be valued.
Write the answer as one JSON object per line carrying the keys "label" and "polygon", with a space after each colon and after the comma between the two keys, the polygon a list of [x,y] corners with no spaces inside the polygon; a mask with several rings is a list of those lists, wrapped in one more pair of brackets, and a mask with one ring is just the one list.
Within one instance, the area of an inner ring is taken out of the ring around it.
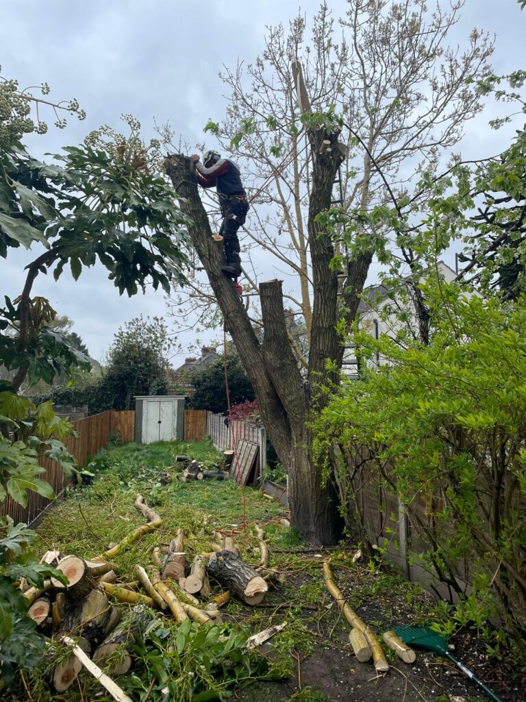
{"label": "grass and bare soil of the garden around the cut logs", "polygon": [[[270,661],[267,673],[274,671],[274,677],[280,680],[257,680],[243,687],[237,684],[243,676],[238,676],[237,682],[234,678],[228,681],[231,670],[228,665],[219,666],[213,675],[223,676],[221,689],[224,693],[231,692],[239,702],[450,702],[455,697],[475,702],[485,699],[483,692],[450,663],[425,651],[417,654],[414,665],[406,665],[394,654],[389,655],[391,670],[383,677],[375,674],[372,663],[358,663],[348,640],[349,625],[339,615],[335,601],[323,585],[321,562],[326,554],[322,550],[311,550],[294,530],[283,526],[279,522],[285,515],[281,505],[263,498],[255,489],[245,489],[248,526],[243,529],[243,496],[238,486],[215,481],[180,483],[175,479],[173,468],[177,453],[187,453],[205,464],[217,460],[213,446],[207,442],[126,444],[103,451],[88,467],[95,473],[93,484],[73,489],[46,515],[38,529],[39,550],[57,548],[84,557],[106,550],[109,542],[119,541],[144,523],[133,508],[137,493],[159,512],[163,524],[159,531],[144,536],[133,548],[116,557],[122,582],[133,580],[135,564],[151,567],[153,548],[168,543],[178,527],[184,529],[185,549],[189,555],[210,550],[213,530],[220,529],[234,534],[246,562],[257,564],[257,539],[250,525],[258,522],[268,540],[271,567],[286,571],[287,578],[285,583],[270,590],[258,607],[229,602],[223,608],[222,618],[225,630],[243,625],[251,632],[286,622],[285,628],[261,649]],[[172,479],[164,485],[166,474]],[[355,550],[349,542],[330,551],[333,575],[351,607],[377,633],[396,624],[429,625],[440,619],[443,621],[443,609],[436,607],[429,593],[406,583],[381,560],[362,557],[353,562]],[[215,594],[217,592],[218,588]],[[164,620],[164,616],[161,617]],[[177,628],[174,623],[166,626]],[[505,656],[503,660],[488,656],[476,632],[461,630],[451,642],[455,655],[504,702],[526,701],[525,678],[518,668],[506,662]],[[164,687],[159,680],[162,675],[156,675],[156,661],[149,658],[147,650],[144,647],[137,650],[133,675],[116,678],[116,682],[134,700],[160,702]],[[187,656],[186,651],[184,655]],[[162,660],[163,665],[170,665],[170,658],[165,656]],[[192,660],[189,656],[180,656],[177,661],[180,677],[196,675],[199,666],[191,670]],[[186,670],[182,661],[187,661]],[[257,668],[257,673],[250,673],[250,677],[261,675],[261,670]],[[86,673],[81,673],[79,684],[67,693],[54,694],[49,691],[48,673],[42,668],[26,675],[23,685],[11,691],[11,699],[34,702],[111,699]],[[174,674],[170,672],[170,675]],[[203,696],[206,685],[203,674],[201,696],[192,697],[194,693],[185,692],[172,699],[217,698]]]}

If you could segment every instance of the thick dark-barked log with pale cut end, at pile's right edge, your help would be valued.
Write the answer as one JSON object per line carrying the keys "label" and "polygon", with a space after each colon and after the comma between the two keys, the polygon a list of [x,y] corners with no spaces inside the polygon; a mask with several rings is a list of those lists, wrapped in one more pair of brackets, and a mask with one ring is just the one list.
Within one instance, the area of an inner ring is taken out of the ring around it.
{"label": "thick dark-barked log with pale cut end, at pile's right edge", "polygon": [[259,573],[231,551],[222,550],[210,555],[206,570],[209,576],[247,604],[259,604],[268,590]]}

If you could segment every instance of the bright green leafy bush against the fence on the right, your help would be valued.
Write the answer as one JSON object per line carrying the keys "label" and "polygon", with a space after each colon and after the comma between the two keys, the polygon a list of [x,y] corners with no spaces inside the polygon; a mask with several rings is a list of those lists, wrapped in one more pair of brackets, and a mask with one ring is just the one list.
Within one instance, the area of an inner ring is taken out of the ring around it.
{"label": "bright green leafy bush against the fence on the right", "polygon": [[497,616],[524,652],[526,297],[466,299],[443,283],[424,291],[431,344],[357,333],[360,355],[384,365],[329,402],[318,453],[329,460],[341,447],[346,505],[356,504],[365,469],[398,494],[425,544],[419,562],[460,597],[457,623],[482,628]]}

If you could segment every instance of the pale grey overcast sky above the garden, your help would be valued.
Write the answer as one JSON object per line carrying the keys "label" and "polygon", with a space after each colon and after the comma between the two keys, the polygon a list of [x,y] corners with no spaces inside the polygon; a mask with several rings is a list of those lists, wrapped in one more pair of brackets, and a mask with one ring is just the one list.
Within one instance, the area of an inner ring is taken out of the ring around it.
{"label": "pale grey overcast sky above the garden", "polygon": [[[338,16],[346,3],[329,5]],[[18,79],[21,87],[47,81],[50,99],[77,98],[87,113],[85,121],[70,118],[64,131],[50,119],[46,136],[27,140],[29,150],[43,157],[79,143],[102,124],[121,129],[121,113],[140,120],[145,138],[154,136],[156,119],[170,121],[188,143],[203,141],[208,119],[219,121],[224,114],[217,75],[222,65],[253,61],[264,46],[266,25],[287,22],[298,6],[283,0],[0,0],[1,75]],[[301,3],[308,17],[318,6],[313,0]],[[497,36],[492,65],[504,74],[526,66],[525,26],[526,11],[515,0],[466,0],[452,43],[462,46],[473,27],[490,30]],[[509,143],[510,130],[488,130],[489,115],[468,125],[460,146],[464,157],[497,153]],[[20,294],[29,260],[24,251],[0,260],[0,300]],[[280,277],[277,270],[274,276]],[[48,297],[74,320],[95,358],[123,322],[138,314],[166,314],[162,292],[119,297],[102,267],[85,270],[76,284],[67,272],[57,283],[39,276],[34,294]],[[194,336],[182,335],[180,341],[187,345]]]}

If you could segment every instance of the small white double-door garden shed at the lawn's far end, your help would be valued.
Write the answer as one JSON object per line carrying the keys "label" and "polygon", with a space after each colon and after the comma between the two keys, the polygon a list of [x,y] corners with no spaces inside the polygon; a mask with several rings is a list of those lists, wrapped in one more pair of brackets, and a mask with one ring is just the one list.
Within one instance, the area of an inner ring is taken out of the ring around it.
{"label": "small white double-door garden shed at the lawn's far end", "polygon": [[182,439],[184,400],[181,395],[140,395],[135,397],[135,442]]}

